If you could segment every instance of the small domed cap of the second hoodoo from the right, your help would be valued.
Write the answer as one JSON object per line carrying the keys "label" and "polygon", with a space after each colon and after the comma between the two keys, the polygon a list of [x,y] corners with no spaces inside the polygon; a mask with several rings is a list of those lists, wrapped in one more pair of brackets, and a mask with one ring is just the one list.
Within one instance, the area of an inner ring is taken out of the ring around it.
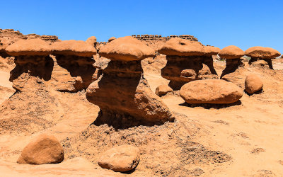
{"label": "small domed cap of the second hoodoo from the right", "polygon": [[245,55],[245,52],[235,45],[229,45],[220,50],[218,55],[225,59],[239,59]]}

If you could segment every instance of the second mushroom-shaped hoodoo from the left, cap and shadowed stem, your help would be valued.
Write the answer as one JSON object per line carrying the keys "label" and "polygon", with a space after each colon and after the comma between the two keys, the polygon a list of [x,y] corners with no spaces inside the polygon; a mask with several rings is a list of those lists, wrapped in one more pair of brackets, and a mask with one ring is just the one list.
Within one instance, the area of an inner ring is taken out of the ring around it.
{"label": "second mushroom-shaped hoodoo from the left, cap and shadowed stem", "polygon": [[[60,72],[55,72],[54,78],[61,82],[56,84],[58,91],[81,91],[98,78],[99,72],[93,66],[96,48],[90,43],[82,40],[64,40],[54,42],[51,47],[57,64],[67,69],[71,75],[64,76]],[[54,70],[57,69],[54,67]]]}

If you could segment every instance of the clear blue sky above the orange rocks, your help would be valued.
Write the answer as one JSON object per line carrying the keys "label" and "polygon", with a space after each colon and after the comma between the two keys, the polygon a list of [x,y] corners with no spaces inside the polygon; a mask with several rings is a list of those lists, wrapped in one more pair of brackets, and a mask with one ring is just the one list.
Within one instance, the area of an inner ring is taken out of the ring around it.
{"label": "clear blue sky above the orange rocks", "polygon": [[62,40],[133,34],[194,35],[204,45],[283,52],[283,1],[1,1],[0,28]]}

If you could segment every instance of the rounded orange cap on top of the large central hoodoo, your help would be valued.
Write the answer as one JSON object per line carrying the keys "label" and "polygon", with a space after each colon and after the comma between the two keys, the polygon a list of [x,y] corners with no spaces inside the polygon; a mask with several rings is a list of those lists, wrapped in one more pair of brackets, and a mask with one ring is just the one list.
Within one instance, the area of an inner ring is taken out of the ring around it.
{"label": "rounded orange cap on top of the large central hoodoo", "polygon": [[153,49],[131,36],[117,38],[104,45],[99,55],[112,60],[134,61],[154,57]]}

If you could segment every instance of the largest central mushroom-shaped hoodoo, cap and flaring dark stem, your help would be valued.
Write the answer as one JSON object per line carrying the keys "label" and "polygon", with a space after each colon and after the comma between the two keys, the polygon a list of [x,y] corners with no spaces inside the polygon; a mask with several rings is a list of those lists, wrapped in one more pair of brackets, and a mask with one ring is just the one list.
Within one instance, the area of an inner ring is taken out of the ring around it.
{"label": "largest central mushroom-shaped hoodoo, cap and flaring dark stem", "polygon": [[86,90],[86,98],[100,107],[96,125],[117,127],[153,125],[173,120],[161,98],[144,79],[141,59],[154,50],[132,37],[117,38],[100,48],[100,56],[111,61],[102,76]]}

